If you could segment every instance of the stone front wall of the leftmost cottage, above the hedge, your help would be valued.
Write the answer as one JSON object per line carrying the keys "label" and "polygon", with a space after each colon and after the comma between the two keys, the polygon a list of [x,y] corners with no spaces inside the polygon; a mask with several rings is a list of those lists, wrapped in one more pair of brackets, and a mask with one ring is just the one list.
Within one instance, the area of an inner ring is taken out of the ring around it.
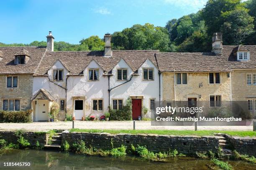
{"label": "stone front wall of the leftmost cottage, above the hedge", "polygon": [[[7,87],[7,77],[17,76],[18,87]],[[0,75],[0,110],[3,110],[3,100],[20,100],[20,109],[31,109],[33,92],[33,76],[31,74]]]}

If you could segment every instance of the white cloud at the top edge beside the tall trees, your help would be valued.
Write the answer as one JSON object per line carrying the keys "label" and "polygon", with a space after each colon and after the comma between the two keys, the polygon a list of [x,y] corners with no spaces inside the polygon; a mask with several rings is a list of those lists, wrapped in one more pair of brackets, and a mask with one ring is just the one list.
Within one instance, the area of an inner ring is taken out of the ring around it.
{"label": "white cloud at the top edge beside the tall trees", "polygon": [[182,7],[182,9],[199,10],[204,7],[207,0],[164,0],[164,2],[176,7]]}

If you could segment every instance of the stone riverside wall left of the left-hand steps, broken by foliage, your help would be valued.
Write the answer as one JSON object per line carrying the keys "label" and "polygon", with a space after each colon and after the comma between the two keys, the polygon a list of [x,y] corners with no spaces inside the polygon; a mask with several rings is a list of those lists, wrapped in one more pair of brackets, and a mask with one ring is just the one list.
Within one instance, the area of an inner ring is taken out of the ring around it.
{"label": "stone riverside wall left of the left-hand steps, broken by foliage", "polygon": [[[36,146],[36,141],[38,141],[40,146],[46,145],[48,141],[48,134],[46,132],[25,132],[22,136],[28,140],[31,147]],[[15,135],[15,132],[0,131],[0,139],[4,139],[8,143],[18,143],[18,137]]]}

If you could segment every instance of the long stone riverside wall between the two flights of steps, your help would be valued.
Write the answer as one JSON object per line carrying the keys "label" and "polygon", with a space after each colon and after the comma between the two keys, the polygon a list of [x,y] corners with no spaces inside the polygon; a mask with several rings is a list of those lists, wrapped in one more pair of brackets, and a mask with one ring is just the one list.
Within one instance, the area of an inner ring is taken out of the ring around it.
{"label": "long stone riverside wall between the two flights of steps", "polygon": [[169,149],[177,149],[179,152],[186,154],[195,154],[196,152],[208,150],[217,152],[219,147],[218,138],[214,137],[131,134],[111,135],[108,133],[69,133],[67,130],[62,133],[61,142],[64,143],[66,140],[71,145],[78,140],[83,140],[87,146],[103,150],[110,150],[113,141],[115,148],[120,145],[126,145],[128,148],[130,148],[131,144],[134,146],[146,145],[148,150],[154,152],[167,152]]}

